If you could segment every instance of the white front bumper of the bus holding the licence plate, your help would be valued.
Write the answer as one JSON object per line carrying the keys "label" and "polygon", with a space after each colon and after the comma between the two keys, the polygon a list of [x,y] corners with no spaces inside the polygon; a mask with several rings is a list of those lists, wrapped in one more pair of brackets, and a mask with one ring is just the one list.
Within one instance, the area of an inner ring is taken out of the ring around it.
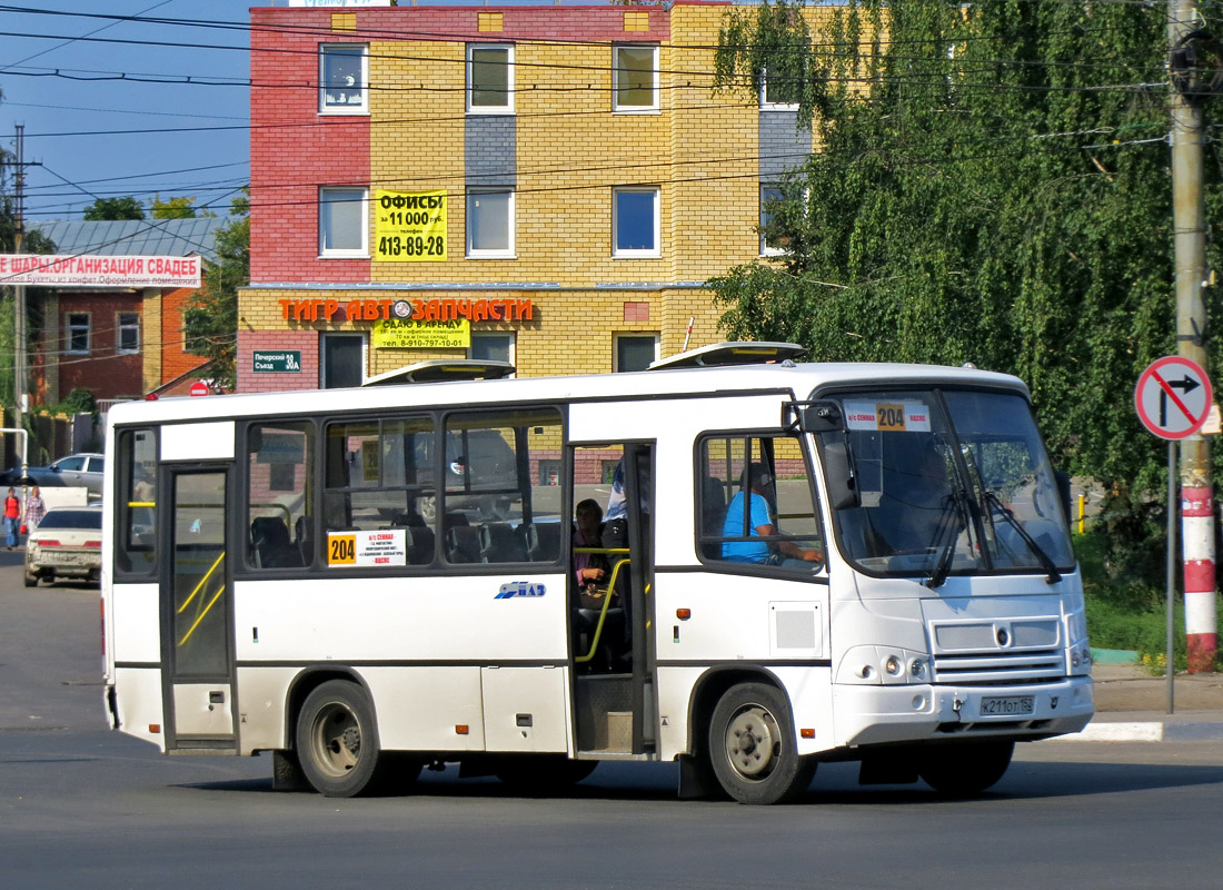
{"label": "white front bumper of the bus holding the licence plate", "polygon": [[1091,677],[1031,686],[833,687],[838,746],[1016,741],[1079,732],[1095,712]]}

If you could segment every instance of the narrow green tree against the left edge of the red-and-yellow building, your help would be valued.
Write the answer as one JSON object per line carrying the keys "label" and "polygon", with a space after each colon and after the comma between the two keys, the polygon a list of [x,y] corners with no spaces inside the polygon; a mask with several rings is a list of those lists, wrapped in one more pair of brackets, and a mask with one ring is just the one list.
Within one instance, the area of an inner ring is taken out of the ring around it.
{"label": "narrow green tree against the left edge of the red-and-yellow building", "polygon": [[204,262],[203,284],[183,315],[188,348],[212,360],[209,373],[224,387],[236,380],[237,289],[251,283],[251,200],[231,202],[230,222],[216,231],[216,261]]}

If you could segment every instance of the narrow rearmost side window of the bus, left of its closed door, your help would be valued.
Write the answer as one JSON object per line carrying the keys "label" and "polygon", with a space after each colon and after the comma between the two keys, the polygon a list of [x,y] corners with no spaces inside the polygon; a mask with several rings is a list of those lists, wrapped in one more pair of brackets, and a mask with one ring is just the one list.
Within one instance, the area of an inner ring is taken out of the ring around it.
{"label": "narrow rearmost side window of the bus, left of its closed door", "polygon": [[119,435],[119,523],[115,568],[127,575],[157,572],[157,435],[130,430]]}

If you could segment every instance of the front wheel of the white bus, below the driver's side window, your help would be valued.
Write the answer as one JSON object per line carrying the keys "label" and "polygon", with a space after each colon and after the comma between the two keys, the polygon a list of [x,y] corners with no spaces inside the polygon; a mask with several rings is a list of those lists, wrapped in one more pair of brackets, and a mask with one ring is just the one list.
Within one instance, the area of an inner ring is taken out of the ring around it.
{"label": "front wheel of the white bus, below the driver's side window", "polygon": [[815,758],[800,757],[785,695],[766,683],[740,683],[709,720],[709,761],[739,803],[783,803],[811,785]]}

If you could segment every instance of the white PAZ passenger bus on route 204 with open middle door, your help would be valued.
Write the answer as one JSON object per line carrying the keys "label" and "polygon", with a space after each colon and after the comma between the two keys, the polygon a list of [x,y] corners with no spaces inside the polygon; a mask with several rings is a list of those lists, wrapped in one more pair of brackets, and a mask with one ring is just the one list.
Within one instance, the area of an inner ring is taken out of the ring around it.
{"label": "white PAZ passenger bus on route 204 with open middle door", "polygon": [[[116,405],[113,726],[268,752],[278,786],[329,796],[455,763],[555,788],[602,760],[745,803],[821,760],[989,787],[1015,742],[1092,716],[1029,393],[797,353]],[[586,501],[620,502],[597,546],[574,545]]]}

